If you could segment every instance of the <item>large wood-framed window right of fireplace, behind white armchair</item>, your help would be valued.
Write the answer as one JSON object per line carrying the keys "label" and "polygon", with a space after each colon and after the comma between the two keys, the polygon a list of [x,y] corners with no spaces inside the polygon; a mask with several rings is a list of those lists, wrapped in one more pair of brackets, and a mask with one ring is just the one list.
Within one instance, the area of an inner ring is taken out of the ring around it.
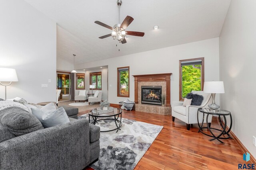
{"label": "large wood-framed window right of fireplace, behind white armchair", "polygon": [[204,57],[180,60],[180,101],[192,90],[202,90],[203,86]]}

